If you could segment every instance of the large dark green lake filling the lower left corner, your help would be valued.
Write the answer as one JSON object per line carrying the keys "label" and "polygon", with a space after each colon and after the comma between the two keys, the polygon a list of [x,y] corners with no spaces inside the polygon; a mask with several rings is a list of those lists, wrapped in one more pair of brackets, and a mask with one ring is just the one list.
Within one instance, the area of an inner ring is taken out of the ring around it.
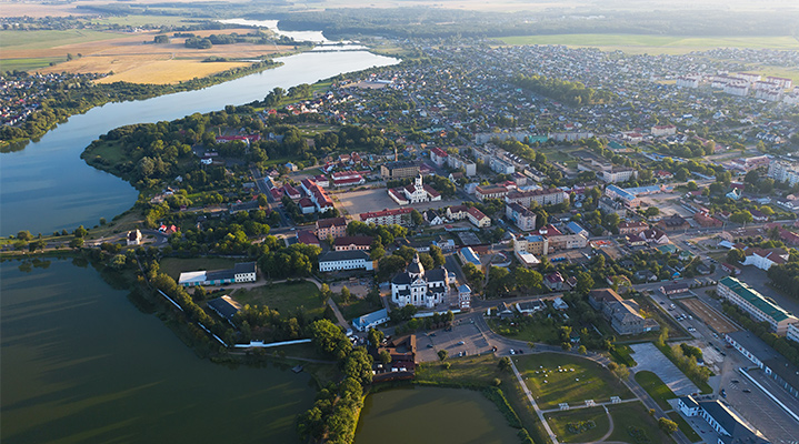
{"label": "large dark green lake filling the lower left corner", "polygon": [[0,263],[0,441],[296,443],[316,390],[198,359],[91,268]]}

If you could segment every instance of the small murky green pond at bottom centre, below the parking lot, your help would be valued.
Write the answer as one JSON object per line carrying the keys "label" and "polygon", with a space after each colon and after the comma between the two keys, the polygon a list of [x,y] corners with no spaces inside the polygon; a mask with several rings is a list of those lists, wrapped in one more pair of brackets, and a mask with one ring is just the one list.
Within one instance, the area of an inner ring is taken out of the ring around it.
{"label": "small murky green pond at bottom centre, below the parking lot", "polygon": [[416,386],[369,395],[356,444],[507,444],[517,432],[479,392]]}

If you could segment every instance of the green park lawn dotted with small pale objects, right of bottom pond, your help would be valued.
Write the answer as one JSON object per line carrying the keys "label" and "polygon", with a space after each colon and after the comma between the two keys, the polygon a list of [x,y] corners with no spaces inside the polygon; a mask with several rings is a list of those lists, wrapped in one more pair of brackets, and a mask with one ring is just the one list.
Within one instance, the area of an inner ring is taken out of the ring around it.
{"label": "green park lawn dotted with small pale objects, right of bottom pond", "polygon": [[[610,371],[588,359],[536,353],[515,356],[513,361],[541,410],[557,408],[560,403],[582,404],[586,400],[610,401],[610,396],[632,397]],[[558,372],[559,366],[565,371]]]}

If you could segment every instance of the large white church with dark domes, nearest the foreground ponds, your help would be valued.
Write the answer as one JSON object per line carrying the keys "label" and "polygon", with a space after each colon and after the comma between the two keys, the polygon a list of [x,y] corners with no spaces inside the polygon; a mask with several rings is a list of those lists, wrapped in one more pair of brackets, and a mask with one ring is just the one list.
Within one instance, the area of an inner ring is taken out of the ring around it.
{"label": "large white church with dark domes, nearest the foreground ponds", "polygon": [[449,274],[443,266],[425,270],[419,253],[403,272],[391,280],[391,301],[399,305],[408,304],[432,309],[445,302],[449,291]]}

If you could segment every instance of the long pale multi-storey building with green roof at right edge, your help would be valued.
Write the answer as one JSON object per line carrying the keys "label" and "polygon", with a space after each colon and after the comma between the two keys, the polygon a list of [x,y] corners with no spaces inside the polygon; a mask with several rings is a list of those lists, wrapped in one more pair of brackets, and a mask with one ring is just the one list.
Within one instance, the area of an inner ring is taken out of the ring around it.
{"label": "long pale multi-storey building with green roof at right edge", "polygon": [[738,305],[755,321],[767,322],[771,331],[781,336],[786,335],[788,325],[799,322],[799,319],[736,278],[721,279],[716,285],[716,291],[719,296]]}

